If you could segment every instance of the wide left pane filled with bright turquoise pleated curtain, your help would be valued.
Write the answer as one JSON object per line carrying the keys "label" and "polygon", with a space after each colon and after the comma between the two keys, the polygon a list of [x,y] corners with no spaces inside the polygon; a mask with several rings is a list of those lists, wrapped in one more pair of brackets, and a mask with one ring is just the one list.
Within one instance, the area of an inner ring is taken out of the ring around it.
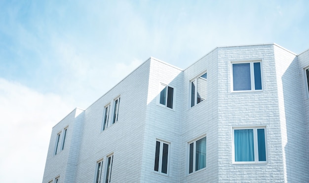
{"label": "wide left pane filled with bright turquoise pleated curtain", "polygon": [[235,161],[254,161],[253,129],[234,130]]}

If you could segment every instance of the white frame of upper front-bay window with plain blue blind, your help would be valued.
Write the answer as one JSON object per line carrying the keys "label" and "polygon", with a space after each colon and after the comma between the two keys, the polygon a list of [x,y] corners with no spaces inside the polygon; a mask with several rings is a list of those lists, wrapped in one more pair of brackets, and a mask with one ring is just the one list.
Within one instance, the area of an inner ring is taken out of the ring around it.
{"label": "white frame of upper front-bay window with plain blue blind", "polygon": [[[254,63],[260,63],[260,70],[261,70],[261,90],[255,90],[255,81],[254,81]],[[233,82],[233,64],[239,63],[250,63],[250,81],[251,81],[251,90],[235,90],[234,91],[234,82]],[[263,91],[263,69],[262,69],[262,60],[249,60],[249,61],[231,61],[231,91],[232,92],[250,92],[250,91]]]}

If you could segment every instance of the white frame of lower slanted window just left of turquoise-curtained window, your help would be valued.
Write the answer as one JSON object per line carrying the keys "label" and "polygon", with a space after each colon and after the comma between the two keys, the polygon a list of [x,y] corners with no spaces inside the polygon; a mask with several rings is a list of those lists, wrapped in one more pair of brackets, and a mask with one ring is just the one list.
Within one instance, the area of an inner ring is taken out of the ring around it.
{"label": "white frame of lower slanted window just left of turquoise-curtained window", "polygon": [[[205,167],[204,168],[201,168],[201,169],[199,169],[199,170],[195,170],[195,159],[196,159],[196,157],[195,157],[195,155],[196,155],[196,141],[198,141],[198,140],[200,140],[200,139],[202,139],[202,138],[206,138],[206,157],[205,157]],[[193,172],[191,172],[191,173],[189,173],[189,171],[190,171],[190,144],[192,144],[193,143]],[[197,138],[195,138],[195,139],[193,139],[193,140],[191,140],[191,141],[189,141],[188,143],[187,143],[187,175],[192,175],[192,174],[195,174],[195,173],[197,173],[197,172],[200,172],[200,171],[203,171],[203,170],[205,170],[206,169],[206,167],[207,167],[207,136],[206,136],[206,134],[204,134],[204,135],[201,135],[201,136],[199,136],[199,137],[197,137]]]}

